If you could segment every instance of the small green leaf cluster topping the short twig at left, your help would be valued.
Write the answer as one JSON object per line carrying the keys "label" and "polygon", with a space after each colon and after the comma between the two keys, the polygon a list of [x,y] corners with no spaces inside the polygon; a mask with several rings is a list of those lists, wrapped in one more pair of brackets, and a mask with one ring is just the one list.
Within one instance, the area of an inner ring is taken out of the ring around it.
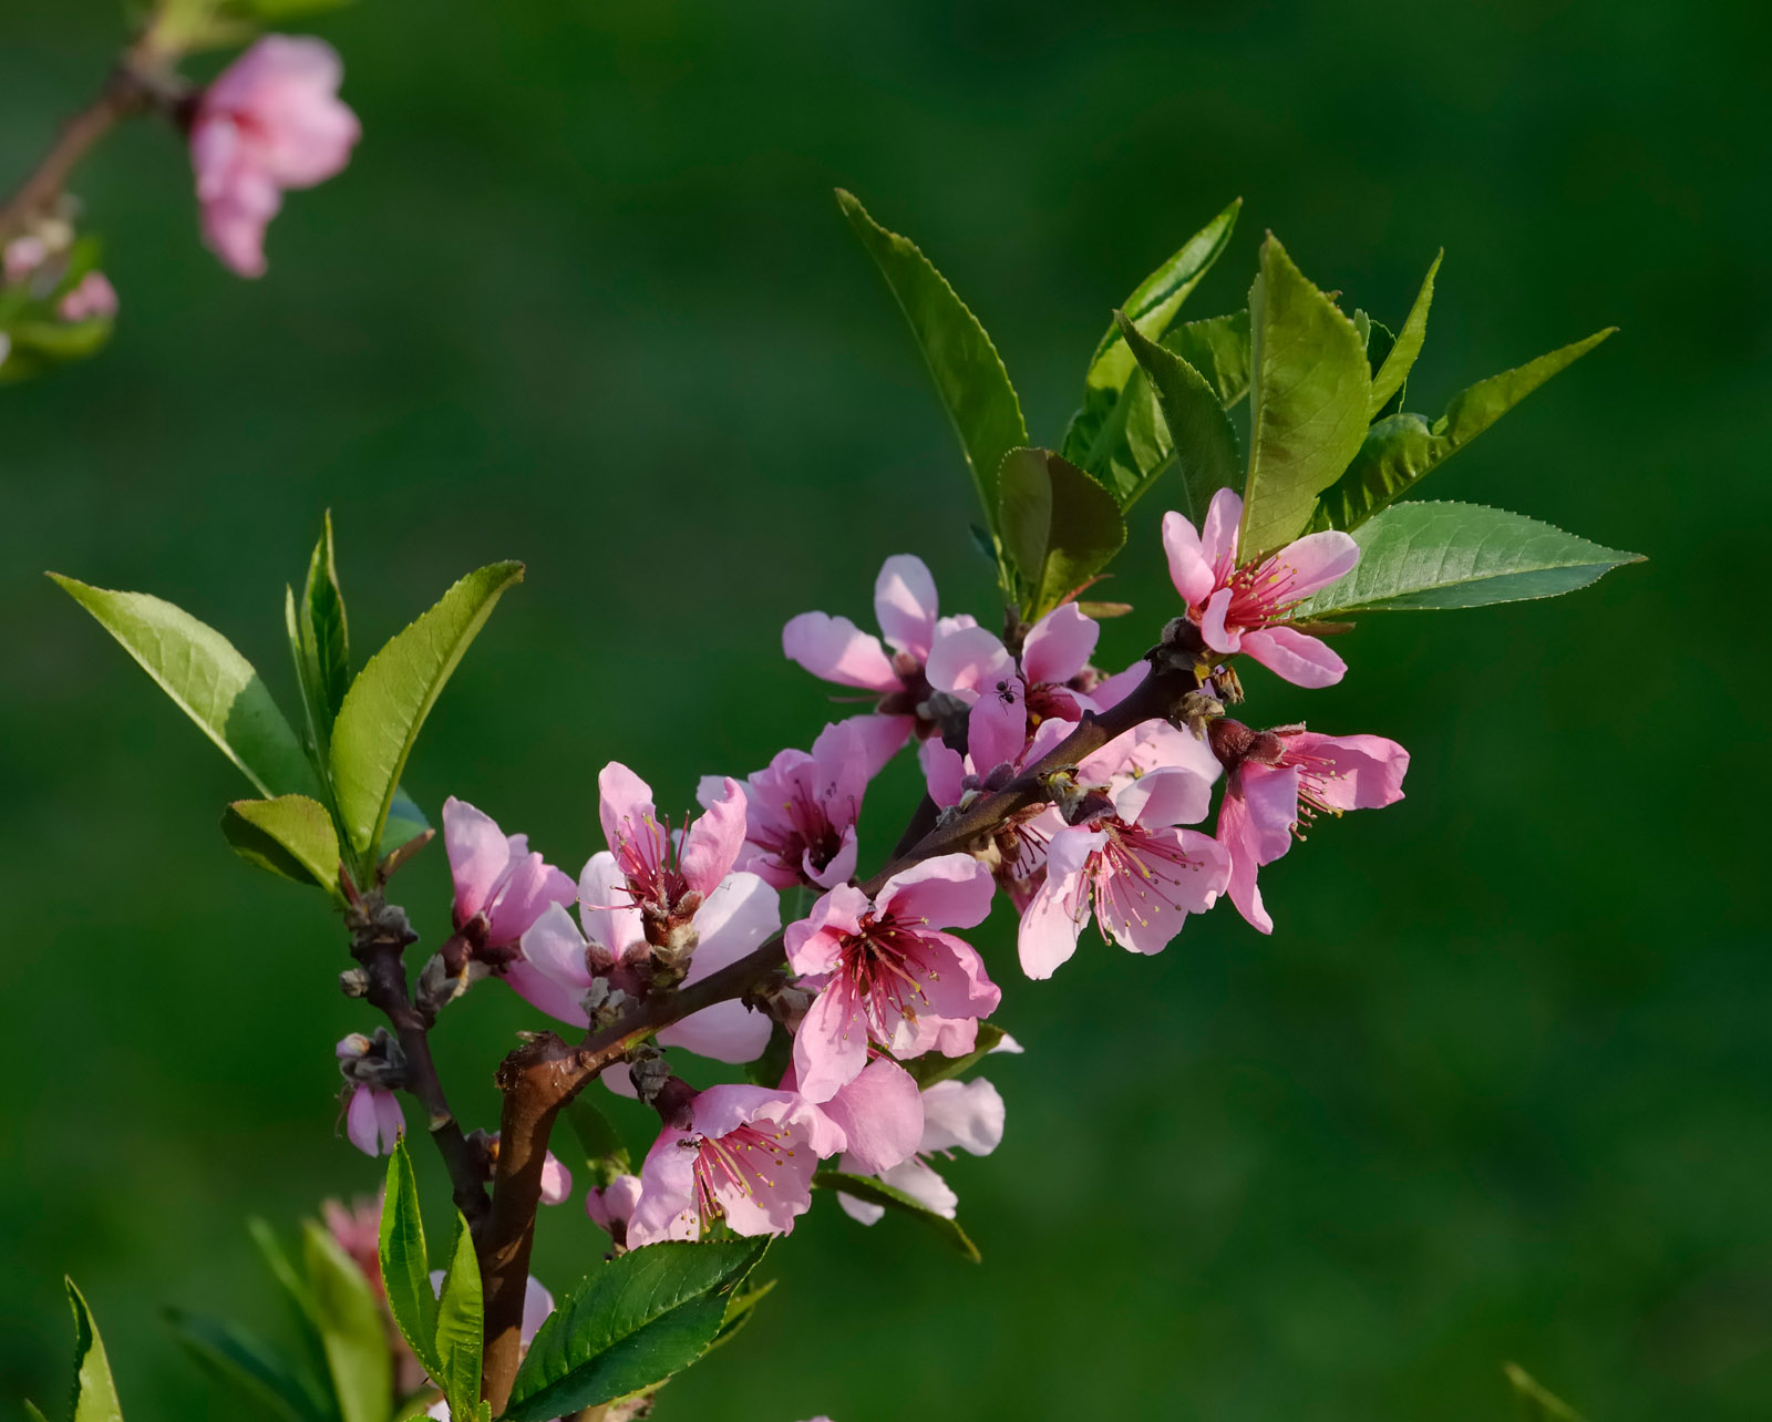
{"label": "small green leaf cluster topping the short twig at left", "polygon": [[145,592],[50,574],[140,663],[257,791],[222,816],[234,851],[260,869],[342,897],[340,867],[369,885],[385,856],[425,833],[400,789],[425,716],[523,564],[457,582],[353,677],[331,514],[284,624],[301,691],[301,731],[259,672],[214,628]]}

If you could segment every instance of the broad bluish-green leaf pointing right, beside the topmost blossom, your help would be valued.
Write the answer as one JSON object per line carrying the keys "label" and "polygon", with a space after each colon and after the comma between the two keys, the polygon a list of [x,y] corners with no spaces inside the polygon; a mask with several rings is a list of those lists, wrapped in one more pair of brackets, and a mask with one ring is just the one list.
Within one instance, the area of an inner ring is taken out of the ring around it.
{"label": "broad bluish-green leaf pointing right, beside the topmost blossom", "polygon": [[1354,543],[1359,566],[1299,606],[1295,619],[1554,598],[1643,560],[1481,504],[1396,504],[1363,523]]}

